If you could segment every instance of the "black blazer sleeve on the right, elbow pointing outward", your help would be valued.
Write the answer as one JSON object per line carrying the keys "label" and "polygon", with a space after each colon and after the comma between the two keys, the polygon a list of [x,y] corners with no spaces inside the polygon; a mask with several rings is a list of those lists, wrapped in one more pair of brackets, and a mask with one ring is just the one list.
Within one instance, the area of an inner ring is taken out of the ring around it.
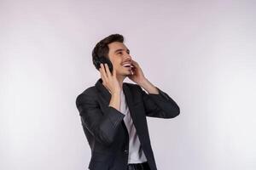
{"label": "black blazer sleeve on the right, elbow pointing outward", "polygon": [[147,94],[140,86],[137,85],[143,95],[143,105],[146,116],[158,118],[173,118],[179,115],[180,110],[177,103],[160,88],[160,94]]}

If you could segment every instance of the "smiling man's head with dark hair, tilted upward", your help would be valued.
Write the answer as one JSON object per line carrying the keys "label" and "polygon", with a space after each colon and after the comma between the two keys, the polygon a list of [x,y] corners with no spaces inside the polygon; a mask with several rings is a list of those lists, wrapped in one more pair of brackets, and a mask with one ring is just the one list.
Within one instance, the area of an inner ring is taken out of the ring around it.
{"label": "smiling man's head with dark hair, tilted upward", "polygon": [[[92,51],[92,59],[95,60],[100,57],[105,57],[111,61],[117,76],[126,77],[131,75],[131,68],[124,66],[125,64],[131,64],[131,55],[130,50],[124,44],[122,35],[112,34],[97,42]],[[96,66],[95,62],[94,65]]]}

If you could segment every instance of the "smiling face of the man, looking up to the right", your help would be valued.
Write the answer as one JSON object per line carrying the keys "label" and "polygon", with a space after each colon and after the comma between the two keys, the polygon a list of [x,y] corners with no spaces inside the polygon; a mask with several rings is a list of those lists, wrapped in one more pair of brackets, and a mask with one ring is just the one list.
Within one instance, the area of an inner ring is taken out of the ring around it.
{"label": "smiling face of the man, looking up to the right", "polygon": [[[108,44],[108,56],[117,75],[131,75],[131,55],[130,50],[122,42],[111,42]],[[125,65],[126,64],[126,65]],[[126,66],[126,67],[125,67]]]}

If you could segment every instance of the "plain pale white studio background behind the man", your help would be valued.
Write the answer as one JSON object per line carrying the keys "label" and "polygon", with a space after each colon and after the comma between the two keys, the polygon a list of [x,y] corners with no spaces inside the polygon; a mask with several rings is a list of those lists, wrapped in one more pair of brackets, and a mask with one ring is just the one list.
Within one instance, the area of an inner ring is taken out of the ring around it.
{"label": "plain pale white studio background behind the man", "polygon": [[255,8],[228,0],[1,0],[0,169],[88,167],[75,99],[100,77],[92,48],[113,33],[180,106],[174,119],[148,118],[160,170],[256,169]]}

